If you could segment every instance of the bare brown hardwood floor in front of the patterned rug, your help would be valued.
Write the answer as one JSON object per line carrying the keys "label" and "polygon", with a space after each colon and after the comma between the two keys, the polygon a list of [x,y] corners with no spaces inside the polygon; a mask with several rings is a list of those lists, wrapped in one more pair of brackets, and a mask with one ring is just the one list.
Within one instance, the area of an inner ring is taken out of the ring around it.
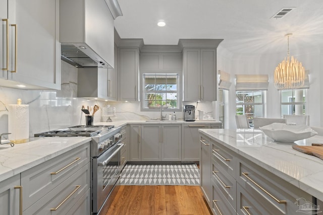
{"label": "bare brown hardwood floor in front of the patterned rug", "polygon": [[[104,211],[104,210],[103,210]],[[199,186],[120,186],[106,215],[209,215]]]}

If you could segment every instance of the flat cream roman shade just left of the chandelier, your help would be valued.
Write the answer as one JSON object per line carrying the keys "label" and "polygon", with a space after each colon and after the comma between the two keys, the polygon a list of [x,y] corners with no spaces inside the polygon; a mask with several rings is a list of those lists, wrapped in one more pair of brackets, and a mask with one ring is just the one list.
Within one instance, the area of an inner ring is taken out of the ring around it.
{"label": "flat cream roman shade just left of the chandelier", "polygon": [[236,75],[236,91],[268,90],[268,75]]}

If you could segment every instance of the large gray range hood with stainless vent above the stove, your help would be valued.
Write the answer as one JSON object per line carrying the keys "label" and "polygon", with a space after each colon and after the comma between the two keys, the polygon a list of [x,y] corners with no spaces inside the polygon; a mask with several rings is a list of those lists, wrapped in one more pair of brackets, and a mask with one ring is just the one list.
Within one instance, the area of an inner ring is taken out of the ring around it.
{"label": "large gray range hood with stainless vent above the stove", "polygon": [[113,68],[118,7],[116,0],[60,1],[61,59],[76,67]]}

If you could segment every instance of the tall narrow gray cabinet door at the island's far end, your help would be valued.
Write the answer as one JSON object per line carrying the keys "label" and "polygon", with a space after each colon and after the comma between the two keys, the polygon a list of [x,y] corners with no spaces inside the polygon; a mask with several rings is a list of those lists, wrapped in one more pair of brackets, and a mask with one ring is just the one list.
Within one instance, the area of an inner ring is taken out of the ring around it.
{"label": "tall narrow gray cabinet door at the island's far end", "polygon": [[211,207],[211,142],[210,139],[201,134],[200,140],[200,186],[204,198]]}

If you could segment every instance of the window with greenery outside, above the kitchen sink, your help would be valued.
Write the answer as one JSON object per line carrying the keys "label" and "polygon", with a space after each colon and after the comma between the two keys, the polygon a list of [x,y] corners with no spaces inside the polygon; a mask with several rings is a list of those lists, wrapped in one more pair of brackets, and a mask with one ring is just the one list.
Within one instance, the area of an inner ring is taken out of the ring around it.
{"label": "window with greenery outside, above the kitchen sink", "polygon": [[178,74],[143,74],[143,108],[179,109]]}

